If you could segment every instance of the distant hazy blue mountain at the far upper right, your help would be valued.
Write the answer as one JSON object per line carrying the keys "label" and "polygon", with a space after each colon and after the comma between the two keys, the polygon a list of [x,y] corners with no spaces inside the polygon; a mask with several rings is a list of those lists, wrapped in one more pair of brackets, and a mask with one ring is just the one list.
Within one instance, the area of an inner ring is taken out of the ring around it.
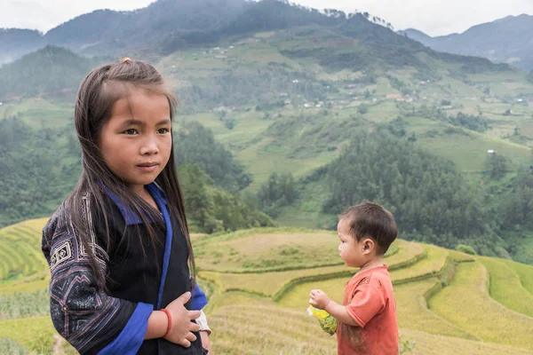
{"label": "distant hazy blue mountain at the far upper right", "polygon": [[507,16],[504,19],[469,28],[462,34],[431,37],[406,29],[401,34],[436,51],[484,57],[508,63],[523,70],[533,69],[533,16]]}

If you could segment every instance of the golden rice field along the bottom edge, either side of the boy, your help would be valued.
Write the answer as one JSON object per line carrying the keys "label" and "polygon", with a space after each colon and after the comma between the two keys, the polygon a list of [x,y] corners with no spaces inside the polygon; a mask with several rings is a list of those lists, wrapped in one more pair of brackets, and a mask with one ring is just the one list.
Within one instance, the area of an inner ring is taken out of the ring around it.
{"label": "golden rice field along the bottom edge, either side of the boy", "polygon": [[[305,311],[282,309],[267,298],[241,292],[227,293],[221,306],[211,312],[208,318],[210,326],[216,329],[211,335],[212,349],[220,355],[337,353],[334,337],[323,333],[318,323]],[[288,324],[290,327],[286,326]],[[414,355],[530,353],[512,346],[428,334],[403,327],[400,334],[402,340],[414,341]]]}

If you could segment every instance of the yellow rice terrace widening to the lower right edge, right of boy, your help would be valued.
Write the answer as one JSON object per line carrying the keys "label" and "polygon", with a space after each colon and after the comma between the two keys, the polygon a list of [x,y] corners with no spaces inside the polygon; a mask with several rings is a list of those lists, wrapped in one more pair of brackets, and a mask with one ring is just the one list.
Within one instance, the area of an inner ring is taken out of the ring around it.
{"label": "yellow rice terrace widening to the lower right edge, right of boy", "polygon": [[490,298],[488,278],[481,263],[459,264],[449,287],[429,300],[429,308],[484,342],[533,351],[533,319]]}

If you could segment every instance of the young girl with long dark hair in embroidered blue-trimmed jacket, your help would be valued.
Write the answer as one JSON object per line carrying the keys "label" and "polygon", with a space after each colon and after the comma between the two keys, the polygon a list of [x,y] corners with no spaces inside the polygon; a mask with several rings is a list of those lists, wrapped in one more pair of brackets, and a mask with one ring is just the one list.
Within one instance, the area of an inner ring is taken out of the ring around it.
{"label": "young girl with long dark hair in embroidered blue-trimmed jacket", "polygon": [[83,172],[44,227],[43,252],[53,325],[82,354],[209,350],[172,149],[175,107],[155,68],[131,59],[92,70],[77,93]]}

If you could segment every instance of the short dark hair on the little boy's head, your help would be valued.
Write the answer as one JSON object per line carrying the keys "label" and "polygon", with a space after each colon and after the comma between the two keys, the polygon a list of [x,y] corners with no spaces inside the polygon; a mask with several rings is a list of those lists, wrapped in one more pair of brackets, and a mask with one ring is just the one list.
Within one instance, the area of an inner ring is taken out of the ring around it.
{"label": "short dark hair on the little boy's head", "polygon": [[346,209],[339,217],[350,223],[352,236],[361,241],[370,237],[378,243],[378,254],[384,255],[398,235],[398,227],[391,212],[378,203],[362,201]]}

